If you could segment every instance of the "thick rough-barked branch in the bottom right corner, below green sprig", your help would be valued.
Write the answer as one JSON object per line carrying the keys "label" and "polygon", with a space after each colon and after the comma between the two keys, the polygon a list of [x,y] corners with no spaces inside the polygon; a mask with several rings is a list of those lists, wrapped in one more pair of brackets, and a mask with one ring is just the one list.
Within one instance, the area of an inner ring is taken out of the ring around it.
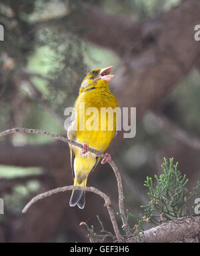
{"label": "thick rough-barked branch in the bottom right corner, below green sprig", "polygon": [[200,234],[200,216],[179,218],[144,231],[147,243],[171,243]]}

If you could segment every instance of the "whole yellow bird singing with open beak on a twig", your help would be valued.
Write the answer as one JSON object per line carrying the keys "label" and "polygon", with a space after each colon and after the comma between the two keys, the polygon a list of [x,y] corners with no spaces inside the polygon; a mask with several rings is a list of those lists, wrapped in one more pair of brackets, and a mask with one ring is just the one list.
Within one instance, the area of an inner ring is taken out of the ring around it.
{"label": "whole yellow bird singing with open beak on a twig", "polygon": [[[83,144],[83,149],[69,145],[75,186],[86,186],[89,173],[99,163],[100,157],[90,153],[88,147],[105,153],[116,133],[117,113],[114,111],[111,119],[105,112],[107,108],[114,110],[117,107],[117,99],[109,91],[109,81],[114,77],[110,75],[111,69],[94,69],[88,73],[75,101],[71,124],[67,129],[69,139]],[[101,163],[107,163],[110,159],[111,155],[106,153]],[[69,205],[78,205],[83,209],[85,192],[73,191]]]}

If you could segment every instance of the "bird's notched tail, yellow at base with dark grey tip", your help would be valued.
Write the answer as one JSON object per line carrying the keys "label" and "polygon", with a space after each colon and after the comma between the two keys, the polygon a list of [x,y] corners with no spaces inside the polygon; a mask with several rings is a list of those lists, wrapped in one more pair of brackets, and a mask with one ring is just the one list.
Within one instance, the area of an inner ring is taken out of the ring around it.
{"label": "bird's notched tail, yellow at base with dark grey tip", "polygon": [[[79,184],[77,182],[77,178],[75,177],[74,179],[74,185],[75,186],[83,186],[86,187],[87,184],[87,178],[85,179],[85,181],[83,181],[81,184]],[[81,191],[81,190],[74,190],[71,193],[71,199],[69,201],[69,205],[70,206],[75,206],[78,205],[78,207],[80,209],[83,209],[85,206],[85,191]]]}

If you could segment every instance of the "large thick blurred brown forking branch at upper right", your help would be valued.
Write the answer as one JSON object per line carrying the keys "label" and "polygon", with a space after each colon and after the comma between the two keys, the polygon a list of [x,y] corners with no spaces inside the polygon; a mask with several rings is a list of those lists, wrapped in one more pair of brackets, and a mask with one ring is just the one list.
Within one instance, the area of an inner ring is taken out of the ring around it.
{"label": "large thick blurred brown forking branch at upper right", "polygon": [[199,43],[193,38],[199,11],[199,0],[182,1],[159,17],[134,23],[127,19],[121,22],[117,15],[87,6],[81,14],[71,11],[64,17],[32,26],[33,30],[52,26],[59,32],[77,33],[119,53],[121,67],[111,83],[112,91],[119,106],[137,107],[138,118],[171,93],[199,60]]}

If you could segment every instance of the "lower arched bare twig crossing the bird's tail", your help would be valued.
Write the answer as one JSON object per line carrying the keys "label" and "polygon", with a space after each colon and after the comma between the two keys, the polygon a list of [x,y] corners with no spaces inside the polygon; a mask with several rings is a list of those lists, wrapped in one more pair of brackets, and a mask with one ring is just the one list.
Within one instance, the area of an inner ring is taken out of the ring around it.
{"label": "lower arched bare twig crossing the bird's tail", "polygon": [[24,207],[23,213],[26,213],[29,207],[33,205],[33,203],[36,203],[37,201],[45,198],[45,197],[50,197],[53,194],[60,193],[60,192],[65,192],[65,191],[70,191],[70,190],[81,190],[81,191],[88,191],[88,192],[93,192],[100,197],[102,197],[105,200],[105,205],[107,207],[107,210],[109,211],[109,216],[111,218],[111,222],[113,224],[113,229],[115,231],[115,235],[117,236],[117,239],[119,243],[122,243],[123,240],[121,238],[121,234],[119,233],[119,229],[117,226],[117,221],[115,219],[115,213],[113,211],[113,207],[111,205],[111,199],[103,192],[101,192],[99,189],[96,189],[95,187],[80,187],[80,186],[67,186],[67,187],[59,187],[57,189],[53,189],[51,191],[47,191],[45,193],[42,193],[40,195],[37,195],[36,197],[33,197],[33,199]]}

